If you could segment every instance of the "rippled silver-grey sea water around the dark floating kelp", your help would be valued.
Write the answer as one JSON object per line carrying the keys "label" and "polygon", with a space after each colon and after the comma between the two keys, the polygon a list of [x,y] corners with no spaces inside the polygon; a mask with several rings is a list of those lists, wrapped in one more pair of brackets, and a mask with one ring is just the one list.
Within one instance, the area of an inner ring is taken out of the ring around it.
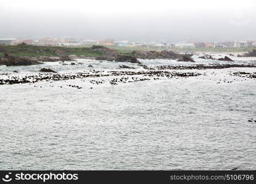
{"label": "rippled silver-grey sea water around the dark floating kelp", "polygon": [[[188,64],[141,61],[151,67]],[[0,66],[0,79],[39,74],[42,67],[60,74],[143,70],[88,59],[66,63]],[[225,62],[192,64],[212,63]],[[103,81],[98,85],[91,78],[0,85],[1,169],[256,169],[256,123],[248,121],[256,120],[256,79],[230,75],[238,71],[256,69],[188,70],[180,72],[202,75],[118,85],[110,84],[111,76],[93,79]]]}

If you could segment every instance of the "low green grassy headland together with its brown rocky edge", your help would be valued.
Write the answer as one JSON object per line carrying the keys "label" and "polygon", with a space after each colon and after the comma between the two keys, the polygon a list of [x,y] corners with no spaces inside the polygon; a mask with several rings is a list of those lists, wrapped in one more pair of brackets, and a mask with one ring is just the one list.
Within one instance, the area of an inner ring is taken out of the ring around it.
{"label": "low green grassy headland together with its brown rocky edge", "polygon": [[34,45],[0,45],[0,64],[6,66],[40,64],[43,61],[72,61],[74,58],[93,58],[138,63],[137,59],[177,59],[194,62],[191,55],[170,50],[116,50],[102,45],[92,47],[46,47]]}

